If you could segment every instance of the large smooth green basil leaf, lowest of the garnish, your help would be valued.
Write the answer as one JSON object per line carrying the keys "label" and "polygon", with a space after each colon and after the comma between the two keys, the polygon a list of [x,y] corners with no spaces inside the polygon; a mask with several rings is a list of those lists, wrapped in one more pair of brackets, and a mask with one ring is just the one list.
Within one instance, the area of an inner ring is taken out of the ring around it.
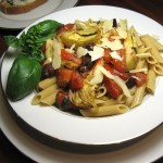
{"label": "large smooth green basil leaf, lowest of the garnish", "polygon": [[10,70],[7,83],[7,96],[17,101],[30,93],[41,77],[41,65],[38,61],[18,55]]}

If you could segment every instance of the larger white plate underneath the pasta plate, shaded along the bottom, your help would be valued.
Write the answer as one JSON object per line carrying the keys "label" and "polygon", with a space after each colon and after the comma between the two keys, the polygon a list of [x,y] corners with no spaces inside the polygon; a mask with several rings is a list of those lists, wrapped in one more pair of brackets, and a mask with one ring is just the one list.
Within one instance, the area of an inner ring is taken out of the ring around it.
{"label": "larger white plate underneath the pasta plate, shaded along the bottom", "polygon": [[0,128],[25,155],[39,163],[141,163],[163,155],[163,125],[141,141],[114,152],[75,154],[49,148],[22,130],[8,112],[0,88]]}

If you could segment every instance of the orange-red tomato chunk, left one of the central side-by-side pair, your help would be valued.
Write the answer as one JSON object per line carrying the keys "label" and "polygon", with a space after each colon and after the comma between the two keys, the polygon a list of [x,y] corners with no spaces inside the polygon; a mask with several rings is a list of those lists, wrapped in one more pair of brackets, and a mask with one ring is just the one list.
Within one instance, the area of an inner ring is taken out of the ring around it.
{"label": "orange-red tomato chunk, left one of the central side-by-side pair", "polygon": [[60,87],[66,88],[71,82],[73,70],[61,67],[57,71],[57,80]]}

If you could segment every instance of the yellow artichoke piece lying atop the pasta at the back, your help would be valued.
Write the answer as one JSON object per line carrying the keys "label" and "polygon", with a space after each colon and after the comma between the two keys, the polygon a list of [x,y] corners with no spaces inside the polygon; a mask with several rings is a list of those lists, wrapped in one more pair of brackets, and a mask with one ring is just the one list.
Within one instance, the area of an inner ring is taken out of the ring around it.
{"label": "yellow artichoke piece lying atop the pasta at the back", "polygon": [[77,30],[64,32],[60,35],[61,42],[68,48],[73,45],[75,45],[75,47],[93,46],[100,38],[99,33],[93,35],[79,35]]}

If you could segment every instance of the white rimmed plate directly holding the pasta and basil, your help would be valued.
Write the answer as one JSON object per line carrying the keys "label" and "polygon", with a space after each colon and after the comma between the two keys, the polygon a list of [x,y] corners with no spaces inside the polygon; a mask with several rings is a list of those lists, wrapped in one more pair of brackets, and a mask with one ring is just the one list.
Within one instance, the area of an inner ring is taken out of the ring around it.
{"label": "white rimmed plate directly holding the pasta and basil", "polygon": [[[92,20],[127,18],[129,26],[134,25],[140,34],[155,34],[163,38],[163,28],[156,22],[139,13],[113,7],[93,5],[67,9],[50,14],[36,23],[47,18],[70,23],[89,17]],[[3,89],[5,89],[12,62],[13,58],[5,55],[1,70]],[[163,123],[162,90],[163,77],[160,77],[154,96],[147,96],[140,106],[122,115],[97,118],[71,115],[57,108],[34,106],[30,104],[34,93],[17,102],[9,100],[9,103],[18,118],[21,117],[29,126],[58,140],[90,146],[113,145],[142,136]]]}

